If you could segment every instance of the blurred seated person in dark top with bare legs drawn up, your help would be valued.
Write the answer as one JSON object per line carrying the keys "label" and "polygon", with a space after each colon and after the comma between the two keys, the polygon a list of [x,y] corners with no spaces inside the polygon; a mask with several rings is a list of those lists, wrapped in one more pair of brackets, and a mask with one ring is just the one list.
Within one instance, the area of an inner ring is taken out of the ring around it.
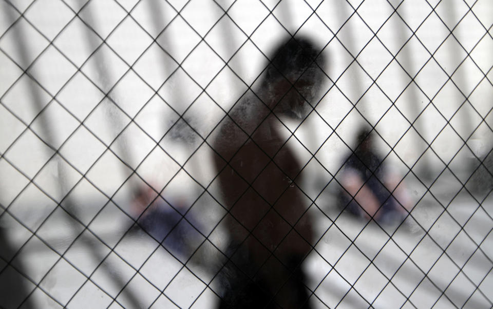
{"label": "blurred seated person in dark top with bare legs drawn up", "polygon": [[386,170],[376,152],[373,134],[367,128],[357,133],[356,150],[346,157],[342,169],[340,206],[357,217],[400,224],[407,215],[409,199],[403,183],[399,184],[399,178]]}

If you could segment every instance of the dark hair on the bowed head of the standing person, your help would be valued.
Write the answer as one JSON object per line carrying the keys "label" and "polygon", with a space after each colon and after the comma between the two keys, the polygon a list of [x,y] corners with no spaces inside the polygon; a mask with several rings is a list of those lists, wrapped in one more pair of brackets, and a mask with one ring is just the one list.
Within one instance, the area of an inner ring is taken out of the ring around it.
{"label": "dark hair on the bowed head of the standing person", "polygon": [[272,53],[264,84],[280,78],[288,78],[293,82],[307,69],[323,67],[324,61],[321,50],[309,38],[289,37]]}

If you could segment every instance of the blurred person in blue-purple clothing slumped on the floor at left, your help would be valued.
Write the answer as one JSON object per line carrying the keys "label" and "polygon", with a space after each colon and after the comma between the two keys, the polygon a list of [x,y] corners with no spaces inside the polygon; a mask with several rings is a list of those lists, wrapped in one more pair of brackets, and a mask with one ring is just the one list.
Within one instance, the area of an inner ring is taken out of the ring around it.
{"label": "blurred person in blue-purple clothing slumped on the floor at left", "polygon": [[132,212],[136,218],[140,216],[137,222],[142,229],[183,261],[193,254],[194,244],[203,238],[197,231],[200,223],[190,213],[186,220],[183,218],[187,210],[183,197],[170,198],[169,202],[172,205],[145,185],[136,191]]}

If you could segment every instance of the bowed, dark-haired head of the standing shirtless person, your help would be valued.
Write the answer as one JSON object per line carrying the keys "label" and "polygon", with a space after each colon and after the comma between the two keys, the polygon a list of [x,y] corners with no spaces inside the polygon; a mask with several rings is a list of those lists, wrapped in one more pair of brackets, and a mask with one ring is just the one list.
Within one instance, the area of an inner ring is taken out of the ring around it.
{"label": "bowed, dark-haired head of the standing shirtless person", "polygon": [[262,90],[274,112],[303,119],[317,102],[323,74],[324,57],[305,37],[283,41],[273,53]]}

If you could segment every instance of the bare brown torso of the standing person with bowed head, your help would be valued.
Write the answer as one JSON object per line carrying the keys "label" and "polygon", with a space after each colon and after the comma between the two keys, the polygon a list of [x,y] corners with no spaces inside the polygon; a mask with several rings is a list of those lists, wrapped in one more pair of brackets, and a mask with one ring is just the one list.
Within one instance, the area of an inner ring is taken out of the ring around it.
{"label": "bare brown torso of the standing person with bowed head", "polygon": [[252,115],[241,119],[232,113],[215,140],[222,157],[215,160],[218,182],[229,210],[224,226],[230,243],[241,244],[248,255],[245,272],[261,278],[282,301],[292,291],[281,286],[311,248],[309,204],[297,186],[301,166],[286,143],[289,134],[280,131],[286,129],[267,109]]}

